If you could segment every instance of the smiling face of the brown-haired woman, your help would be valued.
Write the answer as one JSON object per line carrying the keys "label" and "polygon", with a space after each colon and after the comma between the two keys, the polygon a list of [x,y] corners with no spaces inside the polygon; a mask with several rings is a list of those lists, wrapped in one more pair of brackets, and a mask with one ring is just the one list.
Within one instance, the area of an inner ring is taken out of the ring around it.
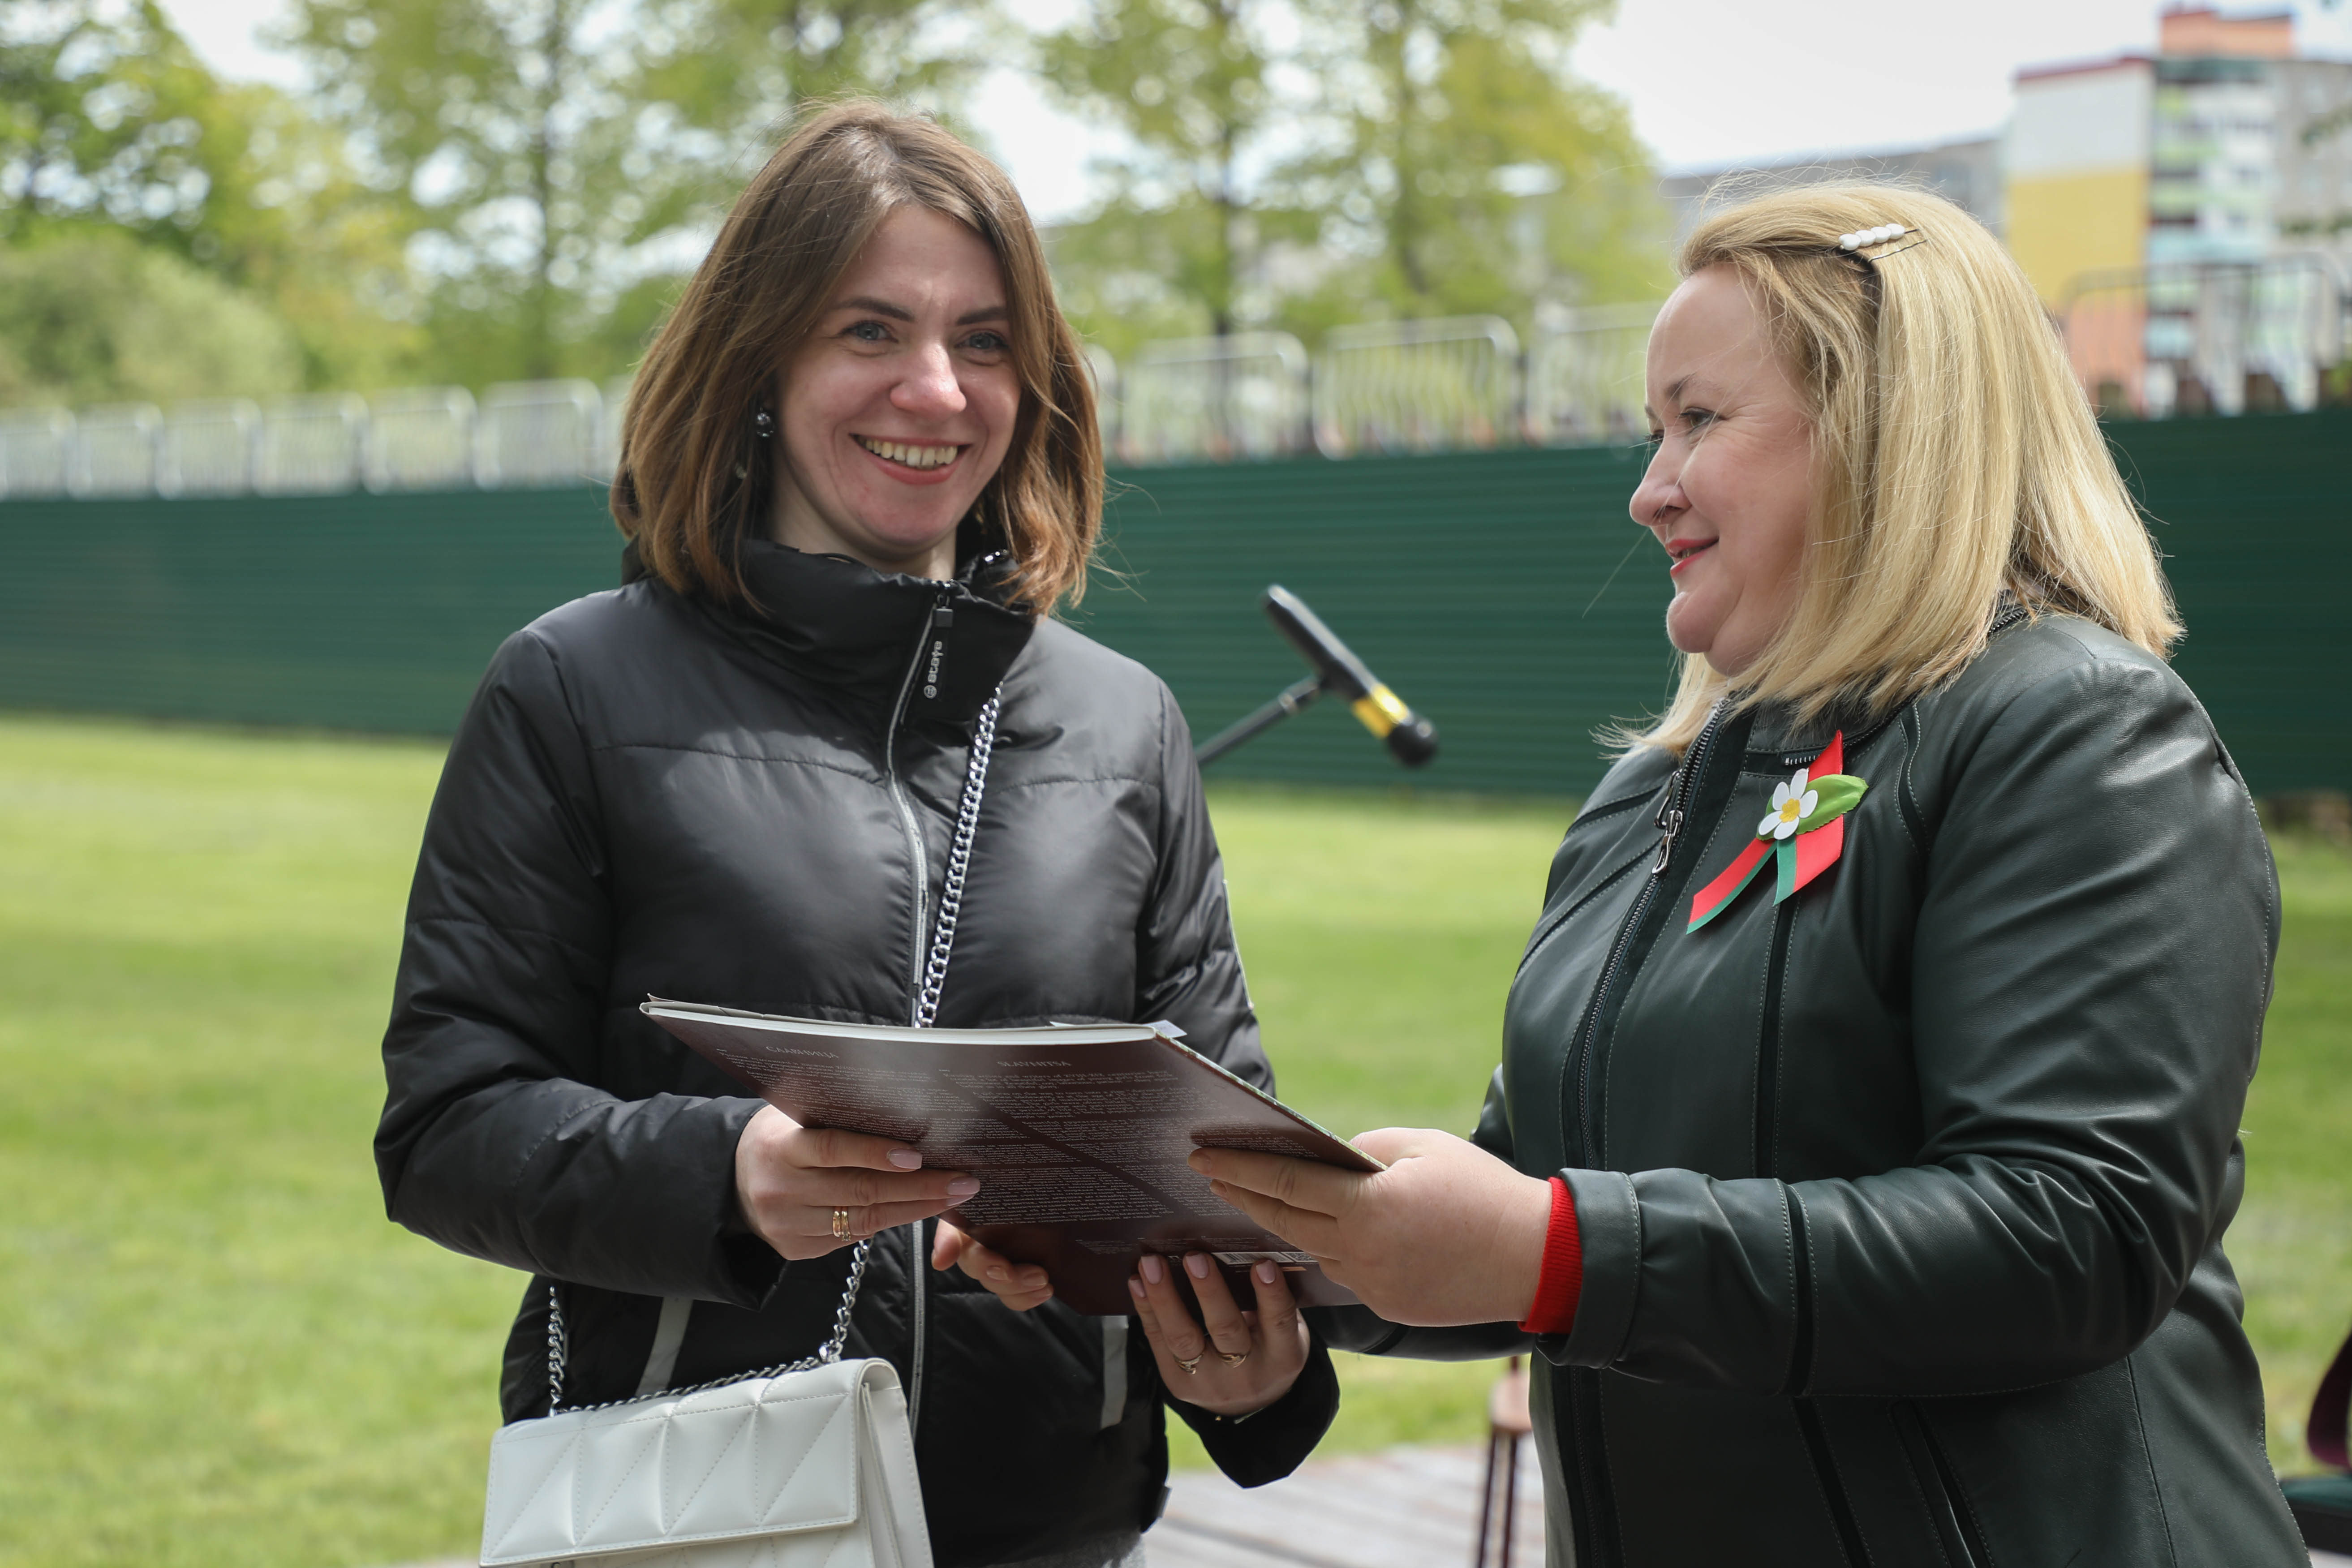
{"label": "smiling face of the brown-haired woman", "polygon": [[955,576],[955,524],[1021,416],[1009,331],[981,235],[929,207],[882,219],[776,378],[774,538]]}

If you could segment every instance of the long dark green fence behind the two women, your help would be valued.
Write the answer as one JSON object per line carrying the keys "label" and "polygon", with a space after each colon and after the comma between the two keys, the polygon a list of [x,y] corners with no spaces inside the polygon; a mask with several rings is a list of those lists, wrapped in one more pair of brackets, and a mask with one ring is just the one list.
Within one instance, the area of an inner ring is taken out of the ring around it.
{"label": "long dark green fence behind the two women", "polygon": [[[2190,639],[2180,672],[2258,790],[2352,785],[2336,672],[2352,414],[2114,425]],[[1592,731],[1672,679],[1639,449],[1319,458],[1117,475],[1073,621],[1155,668],[1207,736],[1305,672],[1258,611],[1284,583],[1442,731],[1402,773],[1338,703],[1221,776],[1578,795]],[[1628,559],[1628,548],[1632,557]],[[0,708],[447,733],[489,651],[609,588],[581,489],[0,503]]]}

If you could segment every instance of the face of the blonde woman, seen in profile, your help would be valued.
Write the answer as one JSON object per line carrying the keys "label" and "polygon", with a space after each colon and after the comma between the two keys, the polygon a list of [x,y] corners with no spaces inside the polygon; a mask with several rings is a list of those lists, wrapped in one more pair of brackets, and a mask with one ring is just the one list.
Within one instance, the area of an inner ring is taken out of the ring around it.
{"label": "face of the blonde woman, seen in profile", "polygon": [[1693,273],[1649,334],[1658,442],[1632,520],[1665,545],[1665,635],[1738,675],[1797,607],[1813,430],[1738,273]]}

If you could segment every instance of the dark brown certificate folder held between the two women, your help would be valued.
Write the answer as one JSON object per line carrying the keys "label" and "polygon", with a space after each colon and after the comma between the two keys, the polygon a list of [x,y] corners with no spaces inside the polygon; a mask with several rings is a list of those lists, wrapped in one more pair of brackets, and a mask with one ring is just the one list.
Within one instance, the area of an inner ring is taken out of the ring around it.
{"label": "dark brown certificate folder held between the two women", "polygon": [[1211,1194],[1185,1157],[1381,1161],[1185,1048],[1174,1025],[908,1030],[661,997],[640,1011],[802,1126],[898,1138],[927,1166],[978,1175],[978,1194],[948,1213],[1007,1258],[1044,1265],[1077,1312],[1127,1314],[1127,1276],[1148,1251],[1214,1253],[1244,1307],[1261,1258],[1289,1272],[1301,1302],[1355,1300]]}

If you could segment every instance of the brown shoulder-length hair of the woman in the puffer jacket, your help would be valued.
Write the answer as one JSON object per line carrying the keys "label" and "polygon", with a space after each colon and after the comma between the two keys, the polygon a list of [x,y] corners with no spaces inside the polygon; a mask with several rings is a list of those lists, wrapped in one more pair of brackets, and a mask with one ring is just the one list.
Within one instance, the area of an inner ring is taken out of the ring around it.
{"label": "brown shoulder-length hair of the woman in the puffer jacket", "polygon": [[767,527],[771,463],[753,416],[894,207],[971,226],[1004,270],[1021,418],[974,520],[1014,557],[1035,614],[1077,602],[1103,527],[1103,440],[1044,244],[1004,172],[922,115],[821,106],[750,181],[637,369],[612,515],[663,583],[743,604],[741,543]]}

